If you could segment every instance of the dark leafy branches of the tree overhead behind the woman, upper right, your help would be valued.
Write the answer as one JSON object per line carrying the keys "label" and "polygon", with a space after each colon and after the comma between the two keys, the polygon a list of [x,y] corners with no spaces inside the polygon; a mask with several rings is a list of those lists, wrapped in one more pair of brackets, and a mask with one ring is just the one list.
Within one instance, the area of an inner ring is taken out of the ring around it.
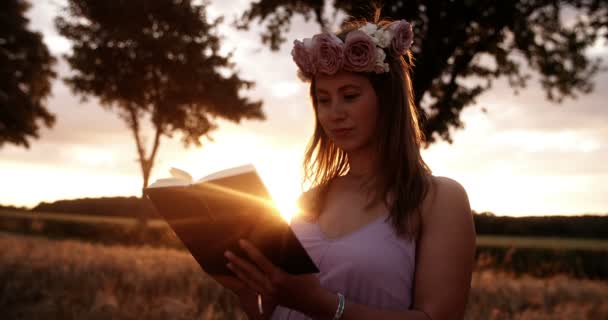
{"label": "dark leafy branches of the tree overhead behind the woman, upper right", "polygon": [[[239,28],[266,23],[262,42],[272,50],[285,42],[291,20],[302,15],[327,27],[325,0],[259,0],[250,5]],[[413,72],[416,105],[428,147],[438,135],[452,143],[450,127],[463,128],[462,109],[488,90],[492,80],[507,77],[517,93],[530,77],[522,63],[535,71],[547,98],[566,97],[593,89],[592,76],[601,61],[585,55],[600,37],[608,37],[606,0],[454,0],[383,1],[382,16],[413,23]],[[371,18],[370,1],[334,0],[336,12]],[[570,9],[575,16],[565,23]],[[334,17],[336,15],[334,14]],[[346,19],[348,20],[348,19]],[[483,60],[482,60],[483,59]]]}

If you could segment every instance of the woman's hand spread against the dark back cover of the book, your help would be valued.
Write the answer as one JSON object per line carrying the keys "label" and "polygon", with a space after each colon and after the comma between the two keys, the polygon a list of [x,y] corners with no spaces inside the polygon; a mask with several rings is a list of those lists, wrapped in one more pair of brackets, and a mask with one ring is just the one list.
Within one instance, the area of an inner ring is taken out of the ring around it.
{"label": "woman's hand spread against the dark back cover of the book", "polygon": [[275,266],[259,249],[246,240],[239,245],[247,253],[251,262],[226,251],[230,261],[227,266],[249,288],[259,292],[263,299],[270,298],[276,303],[302,313],[313,314],[319,310],[319,298],[325,291],[314,274],[292,275]]}

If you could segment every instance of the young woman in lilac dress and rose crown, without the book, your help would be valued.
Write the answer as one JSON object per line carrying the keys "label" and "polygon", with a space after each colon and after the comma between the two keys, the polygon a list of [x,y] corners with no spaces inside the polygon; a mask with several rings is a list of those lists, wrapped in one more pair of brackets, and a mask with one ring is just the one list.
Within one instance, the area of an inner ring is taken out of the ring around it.
{"label": "young woman in lilac dress and rose crown, without the book", "polygon": [[224,284],[250,318],[463,318],[475,228],[465,189],[420,156],[412,38],[405,20],[376,17],[294,42],[316,128],[291,227],[320,273],[288,274],[243,241],[255,263],[227,252],[240,281]]}

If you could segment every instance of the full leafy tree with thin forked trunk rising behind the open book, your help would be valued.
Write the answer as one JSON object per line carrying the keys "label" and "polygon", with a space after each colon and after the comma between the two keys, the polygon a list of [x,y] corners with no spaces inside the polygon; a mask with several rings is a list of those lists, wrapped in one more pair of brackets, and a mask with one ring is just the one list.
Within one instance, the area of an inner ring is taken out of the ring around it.
{"label": "full leafy tree with thin forked trunk rising behind the open book", "polygon": [[[264,119],[260,101],[240,96],[253,82],[241,79],[231,55],[222,55],[207,4],[189,0],[69,0],[55,20],[73,42],[64,55],[74,70],[72,90],[115,108],[135,138],[143,186],[148,185],[160,139],[179,132],[187,147],[201,145],[216,118]],[[150,148],[143,137],[150,119]]]}

